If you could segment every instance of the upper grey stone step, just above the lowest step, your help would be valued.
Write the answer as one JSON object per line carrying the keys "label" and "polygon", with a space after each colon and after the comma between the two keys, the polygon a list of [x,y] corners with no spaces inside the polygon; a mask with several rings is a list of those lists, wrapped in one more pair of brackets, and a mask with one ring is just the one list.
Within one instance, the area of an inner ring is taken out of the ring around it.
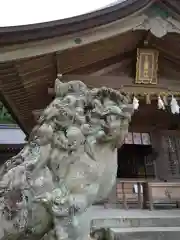
{"label": "upper grey stone step, just above the lowest step", "polygon": [[[116,217],[95,218],[91,220],[91,230],[101,228],[141,228],[141,227],[179,227],[179,216]],[[179,238],[180,239],[180,238]]]}

